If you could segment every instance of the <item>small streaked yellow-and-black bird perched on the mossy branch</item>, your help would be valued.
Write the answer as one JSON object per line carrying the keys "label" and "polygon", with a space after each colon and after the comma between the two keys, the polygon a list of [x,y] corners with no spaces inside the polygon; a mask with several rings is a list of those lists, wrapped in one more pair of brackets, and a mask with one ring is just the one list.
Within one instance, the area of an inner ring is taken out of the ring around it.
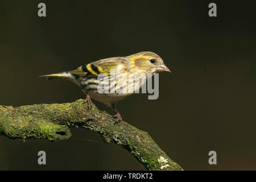
{"label": "small streaked yellow-and-black bird perched on the mossy branch", "polygon": [[[47,77],[47,80],[63,78],[79,85],[82,92],[84,92],[86,95],[84,103],[88,103],[89,109],[93,104],[91,98],[103,102],[115,111],[114,117],[117,118],[115,122],[116,124],[122,121],[121,114],[119,114],[116,109],[117,102],[123,98],[126,98],[127,96],[130,96],[133,93],[98,92],[98,84],[101,81],[101,79],[98,79],[98,76],[104,74],[110,78],[112,77],[112,71],[115,73],[115,78],[118,76],[128,77],[129,74],[134,73],[138,75],[151,74],[153,76],[155,73],[159,72],[171,72],[163,63],[162,58],[156,53],[139,52],[125,57],[111,57],[107,59],[101,59],[89,64],[82,65],[73,71],[43,75],[40,77]],[[115,80],[114,87],[117,86],[117,83],[120,82],[120,80],[122,79],[120,78],[119,80]],[[127,88],[130,86],[130,84],[134,84],[134,81],[124,81],[121,84],[121,87]],[[143,84],[144,82],[141,81],[139,88],[141,88]]]}

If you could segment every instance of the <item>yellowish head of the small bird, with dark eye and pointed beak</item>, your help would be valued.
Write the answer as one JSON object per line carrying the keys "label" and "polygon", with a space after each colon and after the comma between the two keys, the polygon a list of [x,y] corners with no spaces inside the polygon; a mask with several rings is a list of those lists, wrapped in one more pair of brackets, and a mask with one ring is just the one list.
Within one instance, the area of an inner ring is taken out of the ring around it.
{"label": "yellowish head of the small bird, with dark eye and pointed beak", "polygon": [[154,52],[139,52],[134,55],[127,56],[131,63],[134,64],[134,68],[140,73],[159,73],[159,72],[171,72],[163,60]]}

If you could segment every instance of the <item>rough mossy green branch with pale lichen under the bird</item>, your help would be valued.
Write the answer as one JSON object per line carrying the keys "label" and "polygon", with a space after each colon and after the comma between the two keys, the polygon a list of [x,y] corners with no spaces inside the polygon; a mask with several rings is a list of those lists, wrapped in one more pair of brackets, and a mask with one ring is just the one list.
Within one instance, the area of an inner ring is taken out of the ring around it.
{"label": "rough mossy green branch with pale lichen under the bird", "polygon": [[146,132],[114,118],[83,100],[66,104],[1,106],[0,131],[10,138],[62,140],[71,137],[69,127],[81,126],[100,133],[105,142],[114,142],[134,156],[148,170],[182,170]]}

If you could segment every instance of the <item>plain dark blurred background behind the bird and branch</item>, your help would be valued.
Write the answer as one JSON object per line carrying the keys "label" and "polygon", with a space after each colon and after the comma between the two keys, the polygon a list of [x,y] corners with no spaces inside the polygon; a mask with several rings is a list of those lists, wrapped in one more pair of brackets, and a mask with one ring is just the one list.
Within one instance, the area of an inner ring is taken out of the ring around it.
{"label": "plain dark blurred background behind the bird and branch", "polygon": [[[37,15],[40,2],[45,18]],[[210,2],[217,4],[215,18],[208,16]],[[38,76],[152,51],[172,73],[160,74],[158,100],[135,94],[119,102],[123,119],[185,170],[255,170],[255,18],[253,1],[0,1],[0,104],[84,98],[72,82]],[[0,169],[144,169],[97,134],[72,134],[24,143],[0,135]],[[37,163],[40,150],[46,166]],[[215,166],[208,164],[211,150]]]}

